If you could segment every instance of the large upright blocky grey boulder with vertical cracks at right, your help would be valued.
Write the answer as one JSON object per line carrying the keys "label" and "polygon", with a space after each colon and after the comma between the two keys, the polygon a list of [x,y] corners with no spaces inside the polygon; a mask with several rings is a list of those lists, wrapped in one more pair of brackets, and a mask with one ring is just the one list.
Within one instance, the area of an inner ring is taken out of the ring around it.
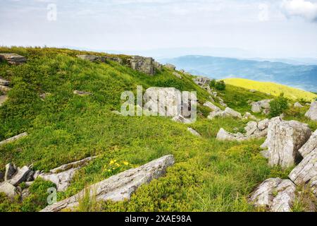
{"label": "large upright blocky grey boulder with vertical cracks at right", "polygon": [[295,165],[300,157],[299,148],[310,136],[311,130],[307,124],[273,118],[268,125],[269,165],[281,165],[284,168]]}

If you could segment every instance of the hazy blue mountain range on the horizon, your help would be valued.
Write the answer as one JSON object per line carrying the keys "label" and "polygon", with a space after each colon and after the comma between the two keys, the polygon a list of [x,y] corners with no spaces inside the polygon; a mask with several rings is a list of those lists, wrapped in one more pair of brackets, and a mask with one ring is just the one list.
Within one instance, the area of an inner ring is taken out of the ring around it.
{"label": "hazy blue mountain range on the horizon", "polygon": [[210,78],[247,78],[254,81],[271,81],[317,92],[317,65],[301,64],[295,59],[278,62],[266,59],[250,60],[190,55],[160,61],[163,64],[174,64],[178,69],[184,69],[192,74]]}

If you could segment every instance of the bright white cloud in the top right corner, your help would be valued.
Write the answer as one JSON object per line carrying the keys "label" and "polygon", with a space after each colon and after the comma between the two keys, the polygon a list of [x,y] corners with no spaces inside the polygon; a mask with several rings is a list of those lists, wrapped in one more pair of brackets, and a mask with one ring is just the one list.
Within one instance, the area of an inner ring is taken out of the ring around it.
{"label": "bright white cloud in the top right corner", "polygon": [[305,0],[284,0],[282,11],[287,17],[299,16],[306,20],[317,22],[317,4]]}

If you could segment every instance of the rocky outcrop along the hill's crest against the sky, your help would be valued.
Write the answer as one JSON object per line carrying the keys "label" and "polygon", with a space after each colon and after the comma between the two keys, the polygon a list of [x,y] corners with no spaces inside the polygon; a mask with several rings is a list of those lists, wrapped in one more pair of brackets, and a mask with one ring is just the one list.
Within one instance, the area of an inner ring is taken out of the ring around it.
{"label": "rocky outcrop along the hill's crest against the sky", "polygon": [[156,69],[161,71],[163,66],[158,62],[154,61],[151,57],[139,57],[139,56],[132,56],[128,58],[125,62],[120,57],[111,57],[111,56],[96,56],[96,55],[77,55],[80,59],[85,59],[92,62],[103,62],[106,63],[107,60],[109,61],[116,61],[121,65],[129,66],[131,69],[136,71],[140,71],[142,73],[147,73],[150,76],[154,76],[156,73]]}

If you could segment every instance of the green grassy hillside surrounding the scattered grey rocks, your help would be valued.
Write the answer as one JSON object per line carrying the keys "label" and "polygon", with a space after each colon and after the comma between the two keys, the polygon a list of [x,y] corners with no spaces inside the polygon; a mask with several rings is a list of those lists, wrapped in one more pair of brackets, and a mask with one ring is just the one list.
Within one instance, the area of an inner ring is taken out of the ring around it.
{"label": "green grassy hillside surrounding the scattered grey rocks", "polygon": [[[204,107],[199,107],[199,119],[190,125],[202,138],[192,136],[187,125],[165,117],[121,117],[111,113],[120,109],[120,93],[135,91],[137,85],[144,89],[159,86],[197,90],[202,104],[209,94],[193,83],[192,76],[182,74],[179,79],[163,69],[151,77],[112,61],[104,64],[77,59],[76,54],[85,52],[68,49],[0,47],[0,52],[15,52],[28,59],[27,64],[20,66],[0,64],[0,76],[10,80],[12,87],[8,101],[0,107],[0,140],[25,131],[30,134],[0,147],[1,172],[8,162],[18,167],[32,164],[34,169],[48,171],[98,155],[80,169],[66,192],[58,193],[61,200],[125,169],[163,155],[175,155],[175,165],[168,169],[166,177],[142,186],[130,202],[87,204],[80,210],[253,211],[256,209],[247,203],[247,197],[254,187],[268,177],[285,178],[290,171],[268,167],[259,153],[263,140],[216,141],[221,127],[243,131],[247,121],[210,121],[204,117],[208,114]],[[73,90],[93,95],[80,97],[73,95]],[[41,93],[50,95],[43,101],[39,98]],[[219,95],[242,114],[250,111],[249,100],[269,97],[232,85]],[[304,112],[292,112],[289,117],[307,120],[303,115]],[[317,128],[316,123],[309,123]],[[119,165],[109,171],[111,160],[117,160]],[[0,211],[44,208],[49,186],[52,184],[37,180],[30,189],[31,196],[23,202],[0,194]]]}

